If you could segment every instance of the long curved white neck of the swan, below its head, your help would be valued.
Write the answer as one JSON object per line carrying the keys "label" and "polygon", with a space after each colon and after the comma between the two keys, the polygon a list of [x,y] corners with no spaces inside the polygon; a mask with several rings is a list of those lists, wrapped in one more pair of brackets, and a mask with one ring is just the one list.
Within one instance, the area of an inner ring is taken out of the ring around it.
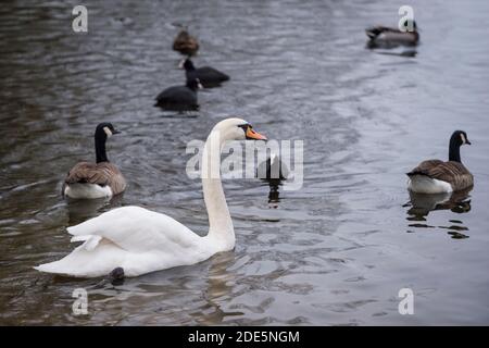
{"label": "long curved white neck of the swan, below its head", "polygon": [[221,150],[226,141],[223,132],[213,129],[205,141],[202,153],[202,188],[209,215],[209,234],[223,248],[235,247],[235,229],[221,183]]}

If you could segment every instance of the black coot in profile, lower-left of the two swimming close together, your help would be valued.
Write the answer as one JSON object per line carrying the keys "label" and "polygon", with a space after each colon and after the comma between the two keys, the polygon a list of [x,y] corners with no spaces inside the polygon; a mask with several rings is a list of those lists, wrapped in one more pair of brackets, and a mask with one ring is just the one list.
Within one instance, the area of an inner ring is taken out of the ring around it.
{"label": "black coot in profile, lower-left of the two swimming close together", "polygon": [[197,90],[202,89],[198,78],[187,80],[185,86],[173,86],[163,90],[155,98],[155,107],[167,110],[197,110]]}

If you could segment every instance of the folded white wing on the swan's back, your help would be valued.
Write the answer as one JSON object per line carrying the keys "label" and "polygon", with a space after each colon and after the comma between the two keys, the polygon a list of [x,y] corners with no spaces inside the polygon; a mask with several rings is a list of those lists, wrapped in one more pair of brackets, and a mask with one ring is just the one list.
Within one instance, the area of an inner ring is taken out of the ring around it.
{"label": "folded white wing on the swan's back", "polygon": [[[139,207],[123,207],[67,228],[74,236],[95,235],[133,252],[199,246],[200,237],[176,220]],[[88,243],[89,239],[86,241]]]}

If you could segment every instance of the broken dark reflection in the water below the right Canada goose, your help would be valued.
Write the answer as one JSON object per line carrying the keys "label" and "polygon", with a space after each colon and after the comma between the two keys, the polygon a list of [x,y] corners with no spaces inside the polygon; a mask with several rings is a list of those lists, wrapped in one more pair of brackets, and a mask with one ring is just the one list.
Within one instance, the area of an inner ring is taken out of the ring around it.
{"label": "broken dark reflection in the water below the right Canada goose", "polygon": [[[471,211],[469,192],[472,187],[465,190],[451,194],[424,195],[410,191],[410,202],[404,207],[408,209],[409,227],[417,228],[442,228],[449,229],[448,234],[455,239],[468,238],[462,232],[468,231],[461,220],[451,219],[447,226],[432,226],[426,223],[427,217],[432,211],[450,210],[457,214]],[[408,232],[413,232],[408,231]]]}

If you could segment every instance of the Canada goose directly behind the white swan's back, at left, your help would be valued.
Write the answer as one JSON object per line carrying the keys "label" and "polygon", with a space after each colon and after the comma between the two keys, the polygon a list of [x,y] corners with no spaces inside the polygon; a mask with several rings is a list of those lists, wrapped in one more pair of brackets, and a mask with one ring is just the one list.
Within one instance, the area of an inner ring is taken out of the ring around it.
{"label": "Canada goose directly behind the white swan's back, at left", "polygon": [[120,132],[111,123],[100,123],[95,133],[97,162],[79,162],[66,175],[63,195],[70,198],[102,198],[118,195],[126,188],[124,176],[109,162],[105,141]]}

